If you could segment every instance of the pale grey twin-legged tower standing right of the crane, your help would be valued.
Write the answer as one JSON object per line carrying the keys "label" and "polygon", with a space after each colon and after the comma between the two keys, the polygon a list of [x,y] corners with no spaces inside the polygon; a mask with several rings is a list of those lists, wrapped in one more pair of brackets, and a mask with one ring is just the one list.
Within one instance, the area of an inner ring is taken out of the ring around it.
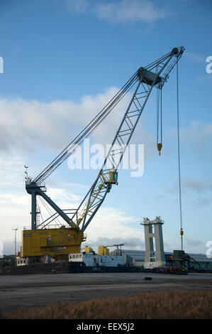
{"label": "pale grey twin-legged tower standing right of the crane", "polygon": [[156,217],[155,220],[144,218],[145,230],[145,262],[165,262],[162,225],[164,220]]}

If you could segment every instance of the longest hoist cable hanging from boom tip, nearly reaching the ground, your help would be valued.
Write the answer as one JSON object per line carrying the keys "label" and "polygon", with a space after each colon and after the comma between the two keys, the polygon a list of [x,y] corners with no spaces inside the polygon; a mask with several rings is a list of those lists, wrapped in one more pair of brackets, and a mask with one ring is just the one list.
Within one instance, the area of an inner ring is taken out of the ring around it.
{"label": "longest hoist cable hanging from boom tip, nearly reaching the ground", "polygon": [[[183,236],[182,229],[182,196],[181,196],[181,173],[180,173],[180,150],[179,150],[179,73],[177,62],[177,151],[178,151],[178,177],[179,177],[179,215],[180,215],[180,235]],[[183,250],[183,242],[182,242]]]}

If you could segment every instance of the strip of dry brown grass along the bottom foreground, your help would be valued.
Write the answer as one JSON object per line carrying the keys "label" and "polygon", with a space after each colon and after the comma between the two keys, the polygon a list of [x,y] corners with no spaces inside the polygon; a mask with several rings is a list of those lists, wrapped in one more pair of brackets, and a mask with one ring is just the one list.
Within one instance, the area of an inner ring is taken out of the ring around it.
{"label": "strip of dry brown grass along the bottom foreground", "polygon": [[211,319],[212,291],[168,291],[51,303],[3,312],[2,319]]}

